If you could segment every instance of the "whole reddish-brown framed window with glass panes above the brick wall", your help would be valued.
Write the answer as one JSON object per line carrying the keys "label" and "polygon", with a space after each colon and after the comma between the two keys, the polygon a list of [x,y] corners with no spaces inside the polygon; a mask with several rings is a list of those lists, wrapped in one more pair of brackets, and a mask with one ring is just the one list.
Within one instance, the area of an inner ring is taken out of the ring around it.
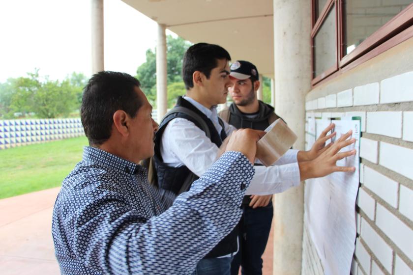
{"label": "whole reddish-brown framed window with glass panes above the brick wall", "polygon": [[413,37],[413,0],[312,0],[316,85]]}

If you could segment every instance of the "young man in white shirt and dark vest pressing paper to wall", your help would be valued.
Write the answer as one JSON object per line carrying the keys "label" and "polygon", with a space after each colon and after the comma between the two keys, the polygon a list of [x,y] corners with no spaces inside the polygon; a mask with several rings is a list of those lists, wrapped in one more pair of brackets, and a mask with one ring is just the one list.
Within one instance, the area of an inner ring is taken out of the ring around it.
{"label": "young man in white shirt and dark vest pressing paper to wall", "polygon": [[[185,53],[182,76],[186,95],[178,99],[177,106],[196,112],[207,123],[211,137],[208,138],[196,120],[186,114],[175,113],[164,118],[155,138],[155,165],[161,188],[177,193],[189,173],[198,177],[204,174],[217,159],[222,141],[236,130],[234,126],[220,122],[216,110],[217,104],[226,102],[228,88],[232,85],[230,60],[225,49],[207,43],[195,44]],[[324,131],[310,151],[289,150],[275,166],[254,167],[255,176],[245,194],[283,192],[307,178],[334,171],[354,171],[354,167],[337,167],[336,161],[355,151],[337,155],[338,151],[324,147],[324,142],[334,135],[327,136],[329,130],[331,128]],[[353,139],[348,141],[349,144],[353,142]],[[210,198],[211,203],[214,199]],[[237,250],[236,232],[233,231],[198,263],[196,274],[229,275],[231,260]]]}

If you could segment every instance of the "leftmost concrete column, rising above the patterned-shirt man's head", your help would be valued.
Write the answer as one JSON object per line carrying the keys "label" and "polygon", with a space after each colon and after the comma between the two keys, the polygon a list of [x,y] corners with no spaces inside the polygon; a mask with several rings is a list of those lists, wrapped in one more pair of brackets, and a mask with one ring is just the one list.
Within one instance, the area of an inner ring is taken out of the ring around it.
{"label": "leftmost concrete column, rising above the patterned-shirt man's head", "polygon": [[103,71],[103,0],[91,0],[92,74]]}

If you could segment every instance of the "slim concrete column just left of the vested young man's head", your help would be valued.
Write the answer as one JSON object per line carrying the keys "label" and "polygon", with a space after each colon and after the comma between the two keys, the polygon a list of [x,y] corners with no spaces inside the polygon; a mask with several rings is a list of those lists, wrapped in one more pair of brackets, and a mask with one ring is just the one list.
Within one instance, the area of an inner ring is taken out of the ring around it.
{"label": "slim concrete column just left of the vested young man's head", "polygon": [[165,25],[158,24],[156,45],[156,109],[158,111],[158,122],[162,120],[168,108],[165,30]]}

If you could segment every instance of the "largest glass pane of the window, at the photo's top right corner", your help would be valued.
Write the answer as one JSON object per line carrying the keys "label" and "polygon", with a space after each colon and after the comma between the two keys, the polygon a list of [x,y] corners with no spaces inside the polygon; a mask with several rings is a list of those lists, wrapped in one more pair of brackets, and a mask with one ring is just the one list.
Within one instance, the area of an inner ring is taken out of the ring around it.
{"label": "largest glass pane of the window, at the photo's top right corner", "polygon": [[364,39],[412,2],[413,0],[345,0],[344,54],[351,53]]}

